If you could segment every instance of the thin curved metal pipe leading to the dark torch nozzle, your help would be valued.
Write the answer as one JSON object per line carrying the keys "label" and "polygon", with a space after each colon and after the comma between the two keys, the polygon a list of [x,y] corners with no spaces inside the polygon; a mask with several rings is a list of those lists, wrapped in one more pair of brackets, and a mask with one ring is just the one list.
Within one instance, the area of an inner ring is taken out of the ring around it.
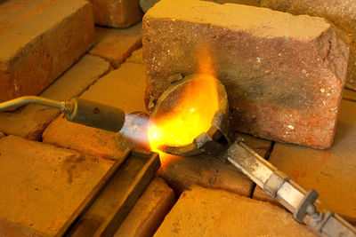
{"label": "thin curved metal pipe leading to the dark torch nozzle", "polygon": [[61,111],[64,111],[66,109],[66,102],[64,101],[46,99],[37,96],[24,96],[24,97],[12,99],[0,103],[0,111],[4,111],[12,107],[20,107],[28,104],[38,104],[46,107],[54,107],[60,109]]}

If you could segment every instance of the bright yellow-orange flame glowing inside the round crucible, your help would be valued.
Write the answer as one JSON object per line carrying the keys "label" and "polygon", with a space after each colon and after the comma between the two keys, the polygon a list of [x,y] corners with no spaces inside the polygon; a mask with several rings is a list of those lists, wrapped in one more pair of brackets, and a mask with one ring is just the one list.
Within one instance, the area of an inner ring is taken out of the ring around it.
{"label": "bright yellow-orange flame glowing inside the round crucible", "polygon": [[211,58],[202,51],[198,59],[199,79],[182,92],[179,106],[151,122],[148,139],[153,151],[159,146],[184,146],[211,127],[219,98]]}

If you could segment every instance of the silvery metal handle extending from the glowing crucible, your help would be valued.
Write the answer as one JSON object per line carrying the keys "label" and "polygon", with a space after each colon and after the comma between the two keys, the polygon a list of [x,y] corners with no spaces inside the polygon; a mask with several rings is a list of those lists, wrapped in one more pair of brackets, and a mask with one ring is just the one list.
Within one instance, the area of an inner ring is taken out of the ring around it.
{"label": "silvery metal handle extending from the glowing crucible", "polygon": [[305,225],[320,236],[356,236],[356,228],[342,217],[328,210],[318,212],[317,207],[321,202],[315,201],[317,196],[314,195],[314,199],[311,197],[311,194],[317,194],[315,191],[306,193],[301,186],[281,174],[242,140],[233,143],[220,159],[231,162],[247,178],[292,212],[295,219],[303,220]]}

